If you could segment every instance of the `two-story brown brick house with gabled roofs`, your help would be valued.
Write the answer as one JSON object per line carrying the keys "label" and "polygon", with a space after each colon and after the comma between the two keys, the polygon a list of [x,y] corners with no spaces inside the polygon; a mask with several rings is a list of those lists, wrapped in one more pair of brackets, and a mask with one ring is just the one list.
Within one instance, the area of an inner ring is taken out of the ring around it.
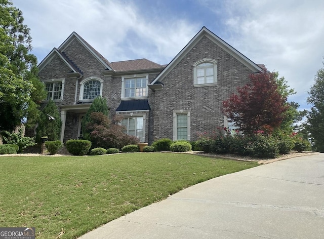
{"label": "two-story brown brick house with gabled roofs", "polygon": [[111,115],[123,116],[127,133],[150,144],[159,138],[196,140],[198,132],[226,127],[222,101],[262,65],[203,27],[168,65],[109,62],[73,32],[38,68],[47,100],[61,113],[61,141],[82,136],[81,119],[102,96]]}

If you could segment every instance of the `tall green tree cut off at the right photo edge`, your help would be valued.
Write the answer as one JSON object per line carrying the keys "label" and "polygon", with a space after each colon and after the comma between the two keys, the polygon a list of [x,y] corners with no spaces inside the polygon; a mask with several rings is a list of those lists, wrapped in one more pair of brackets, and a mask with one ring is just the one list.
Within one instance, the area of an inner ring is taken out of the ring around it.
{"label": "tall green tree cut off at the right photo edge", "polygon": [[307,103],[312,105],[307,117],[307,129],[314,149],[324,152],[324,62],[314,81],[307,98]]}

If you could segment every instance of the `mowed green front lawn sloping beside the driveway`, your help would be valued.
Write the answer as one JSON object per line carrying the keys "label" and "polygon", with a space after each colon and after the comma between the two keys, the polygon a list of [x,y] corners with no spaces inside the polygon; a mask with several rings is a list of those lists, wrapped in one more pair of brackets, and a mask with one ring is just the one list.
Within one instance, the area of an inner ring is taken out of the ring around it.
{"label": "mowed green front lawn sloping beside the driveway", "polygon": [[190,185],[257,166],[180,153],[0,157],[0,226],[75,238]]}

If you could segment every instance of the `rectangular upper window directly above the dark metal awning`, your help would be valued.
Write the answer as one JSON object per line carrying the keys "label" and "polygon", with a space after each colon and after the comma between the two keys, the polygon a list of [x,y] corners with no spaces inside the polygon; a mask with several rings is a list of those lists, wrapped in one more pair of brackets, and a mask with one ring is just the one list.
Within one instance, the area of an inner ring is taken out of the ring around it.
{"label": "rectangular upper window directly above the dark metal awning", "polygon": [[123,76],[121,98],[146,98],[148,75]]}

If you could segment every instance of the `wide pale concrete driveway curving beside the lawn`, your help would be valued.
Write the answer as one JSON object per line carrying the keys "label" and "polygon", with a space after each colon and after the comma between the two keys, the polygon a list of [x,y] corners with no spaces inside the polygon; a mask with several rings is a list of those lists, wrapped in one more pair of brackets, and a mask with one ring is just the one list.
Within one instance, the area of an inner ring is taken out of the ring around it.
{"label": "wide pale concrete driveway curving beside the lawn", "polygon": [[211,179],[79,238],[324,238],[324,154]]}

